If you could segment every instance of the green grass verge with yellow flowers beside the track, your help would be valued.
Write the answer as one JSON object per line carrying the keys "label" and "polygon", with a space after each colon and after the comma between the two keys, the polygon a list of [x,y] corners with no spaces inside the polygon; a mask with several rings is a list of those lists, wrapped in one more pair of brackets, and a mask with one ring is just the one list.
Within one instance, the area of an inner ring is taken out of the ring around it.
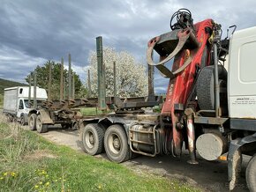
{"label": "green grass verge with yellow flowers beside the track", "polygon": [[136,174],[0,120],[0,191],[196,190],[157,175]]}

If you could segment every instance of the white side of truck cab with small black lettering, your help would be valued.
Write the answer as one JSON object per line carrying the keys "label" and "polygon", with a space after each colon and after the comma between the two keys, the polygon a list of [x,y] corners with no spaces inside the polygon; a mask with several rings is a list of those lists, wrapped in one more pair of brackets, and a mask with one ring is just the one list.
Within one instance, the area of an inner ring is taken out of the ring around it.
{"label": "white side of truck cab with small black lettering", "polygon": [[256,27],[234,33],[230,40],[229,113],[256,118]]}

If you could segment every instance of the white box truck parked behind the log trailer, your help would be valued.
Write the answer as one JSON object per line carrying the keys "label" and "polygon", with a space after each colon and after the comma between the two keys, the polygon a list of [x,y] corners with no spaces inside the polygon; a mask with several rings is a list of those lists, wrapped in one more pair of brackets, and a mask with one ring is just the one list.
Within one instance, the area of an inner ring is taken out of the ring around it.
{"label": "white box truck parked behind the log trailer", "polygon": [[[21,124],[27,123],[27,114],[31,110],[28,103],[28,86],[17,86],[4,89],[4,114],[11,120],[16,119]],[[31,87],[31,100],[34,98],[34,87]],[[36,100],[47,100],[45,89],[36,87]]]}

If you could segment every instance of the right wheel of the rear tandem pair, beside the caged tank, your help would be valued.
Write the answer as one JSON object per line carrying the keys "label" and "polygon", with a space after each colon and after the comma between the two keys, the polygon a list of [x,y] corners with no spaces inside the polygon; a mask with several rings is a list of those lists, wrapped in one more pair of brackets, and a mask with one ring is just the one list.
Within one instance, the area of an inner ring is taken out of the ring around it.
{"label": "right wheel of the rear tandem pair, beside the caged tank", "polygon": [[127,135],[121,125],[111,125],[106,130],[104,146],[110,160],[121,163],[130,159],[131,150],[128,146]]}

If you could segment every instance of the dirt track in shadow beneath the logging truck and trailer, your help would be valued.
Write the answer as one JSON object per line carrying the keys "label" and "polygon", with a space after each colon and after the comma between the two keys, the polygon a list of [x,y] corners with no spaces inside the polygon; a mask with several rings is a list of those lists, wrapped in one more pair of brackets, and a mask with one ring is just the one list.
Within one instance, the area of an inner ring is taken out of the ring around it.
{"label": "dirt track in shadow beneath the logging truck and trailer", "polygon": [[[56,143],[72,147],[72,149],[81,151],[79,141],[79,131],[60,129],[60,127],[51,127],[49,132],[41,134],[42,137]],[[95,156],[96,158],[108,159],[106,154]],[[243,157],[242,177],[234,191],[248,191],[245,181],[245,166],[249,158]],[[148,172],[148,174],[158,174],[163,177],[176,178],[201,188],[202,191],[229,191],[228,167],[225,161],[209,162],[204,159],[198,159],[199,165],[190,165],[186,163],[189,159],[184,151],[182,159],[175,159],[170,156],[157,156],[149,158],[139,156],[135,159],[124,162],[123,165],[136,172]]]}

